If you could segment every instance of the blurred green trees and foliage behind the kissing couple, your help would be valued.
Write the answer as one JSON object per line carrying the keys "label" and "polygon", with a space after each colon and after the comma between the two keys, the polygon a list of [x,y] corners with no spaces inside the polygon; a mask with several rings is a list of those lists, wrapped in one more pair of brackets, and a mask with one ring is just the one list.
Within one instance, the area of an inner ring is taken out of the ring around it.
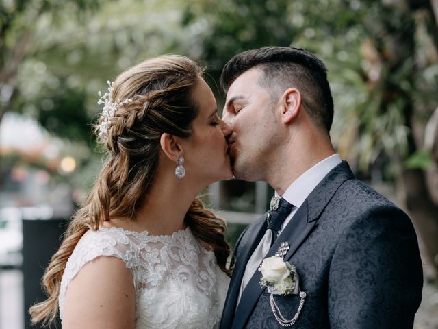
{"label": "blurred green trees and foliage behind the kissing couple", "polygon": [[[99,167],[90,160],[96,149],[91,125],[101,110],[96,93],[120,71],[163,53],[190,56],[207,66],[220,107],[218,77],[235,53],[266,45],[303,47],[329,69],[336,112],[331,134],[342,158],[361,177],[404,191],[408,208],[409,197],[426,193],[432,214],[438,147],[424,143],[438,104],[432,2],[2,1],[0,119],[5,112],[38,119],[64,138],[66,152],[77,154],[82,170],[76,175],[88,177]],[[83,181],[73,177],[75,184]],[[414,190],[413,182],[428,189]],[[415,206],[409,210],[415,213]],[[426,222],[417,216],[418,223]],[[429,222],[420,230],[433,227],[438,234],[438,221]],[[438,243],[431,254],[438,254]]]}

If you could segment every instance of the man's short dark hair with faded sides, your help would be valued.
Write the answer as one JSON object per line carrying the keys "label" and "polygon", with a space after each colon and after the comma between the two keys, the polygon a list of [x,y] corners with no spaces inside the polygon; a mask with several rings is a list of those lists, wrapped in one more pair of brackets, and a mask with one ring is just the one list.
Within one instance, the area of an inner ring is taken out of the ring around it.
{"label": "man's short dark hair with faded sides", "polygon": [[225,93],[239,75],[256,66],[263,70],[259,85],[270,90],[272,97],[278,98],[287,88],[297,88],[313,123],[330,132],[333,98],[326,66],[318,57],[294,47],[262,47],[238,53],[225,64],[220,75]]}

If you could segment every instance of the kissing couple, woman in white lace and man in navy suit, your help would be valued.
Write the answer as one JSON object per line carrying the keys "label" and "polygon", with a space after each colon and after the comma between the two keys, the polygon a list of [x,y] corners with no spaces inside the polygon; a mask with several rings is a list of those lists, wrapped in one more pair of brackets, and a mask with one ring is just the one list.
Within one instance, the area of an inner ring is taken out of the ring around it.
{"label": "kissing couple, woman in white lace and man in navy suit", "polygon": [[[294,47],[237,54],[222,118],[202,75],[160,56],[99,94],[107,158],[34,323],[59,308],[63,328],[412,328],[415,230],[335,153],[324,64]],[[275,195],[231,253],[224,220],[196,195],[233,175]]]}

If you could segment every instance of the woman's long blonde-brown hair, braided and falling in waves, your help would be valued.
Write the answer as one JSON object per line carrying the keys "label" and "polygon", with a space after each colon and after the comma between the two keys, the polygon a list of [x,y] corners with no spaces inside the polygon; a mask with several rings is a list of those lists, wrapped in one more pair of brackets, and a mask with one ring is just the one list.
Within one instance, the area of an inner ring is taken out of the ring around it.
{"label": "woman's long blonde-brown hair, braided and falling in waves", "polygon": [[[42,321],[50,325],[56,319],[62,273],[81,236],[112,217],[133,219],[142,207],[157,169],[160,136],[164,132],[182,138],[192,134],[192,121],[198,115],[193,90],[202,75],[203,69],[189,58],[166,55],[146,60],[117,77],[112,99],[132,101],[118,107],[107,134],[98,138],[108,151],[107,160],[44,273],[42,285],[48,298],[30,308],[32,324]],[[204,247],[214,251],[222,271],[229,273],[224,220],[196,198],[185,223]]]}

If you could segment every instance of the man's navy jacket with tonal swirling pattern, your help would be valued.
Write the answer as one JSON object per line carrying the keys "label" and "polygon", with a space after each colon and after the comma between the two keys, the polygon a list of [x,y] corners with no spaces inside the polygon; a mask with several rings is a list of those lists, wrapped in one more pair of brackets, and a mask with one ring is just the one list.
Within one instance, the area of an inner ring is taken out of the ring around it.
{"label": "man's navy jacket with tonal swirling pattern", "polygon": [[[237,242],[235,269],[221,329],[283,328],[270,308],[256,271],[236,309],[246,263],[266,230],[266,216]],[[363,182],[347,162],[335,167],[311,192],[266,257],[281,242],[284,259],[296,266],[307,293],[291,328],[412,328],[422,294],[422,263],[407,215]],[[298,295],[275,296],[286,319],[298,309]]]}

